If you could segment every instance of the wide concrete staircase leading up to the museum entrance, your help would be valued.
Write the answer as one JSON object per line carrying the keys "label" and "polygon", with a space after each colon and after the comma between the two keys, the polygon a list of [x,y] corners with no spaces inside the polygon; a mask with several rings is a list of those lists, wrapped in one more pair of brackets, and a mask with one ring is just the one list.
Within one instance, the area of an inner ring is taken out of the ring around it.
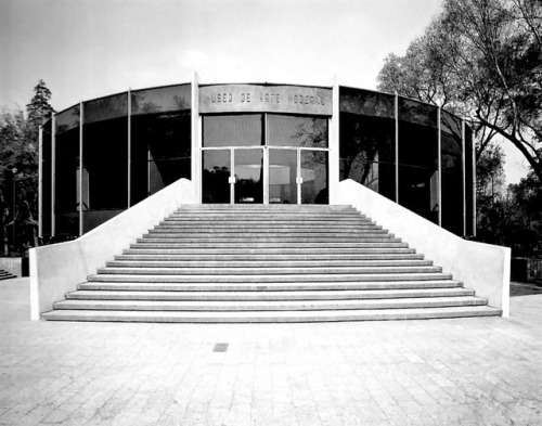
{"label": "wide concrete staircase leading up to the museum entrance", "polygon": [[349,206],[183,206],[47,320],[317,322],[500,315]]}

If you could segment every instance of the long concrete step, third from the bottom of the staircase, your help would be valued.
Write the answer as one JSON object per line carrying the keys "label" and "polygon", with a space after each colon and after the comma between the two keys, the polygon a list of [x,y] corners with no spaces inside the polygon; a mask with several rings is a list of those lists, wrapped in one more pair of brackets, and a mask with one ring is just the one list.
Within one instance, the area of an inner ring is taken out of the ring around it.
{"label": "long concrete step, third from the bottom of the staircase", "polygon": [[66,294],[68,300],[362,300],[423,297],[465,297],[474,292],[461,287],[373,289],[373,291],[289,291],[289,292],[137,292],[137,291],[77,291]]}

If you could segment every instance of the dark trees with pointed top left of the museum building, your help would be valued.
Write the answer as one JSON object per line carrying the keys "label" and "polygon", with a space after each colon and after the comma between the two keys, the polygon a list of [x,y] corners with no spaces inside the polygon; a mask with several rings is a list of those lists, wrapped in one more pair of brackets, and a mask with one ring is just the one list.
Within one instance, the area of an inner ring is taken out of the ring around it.
{"label": "dark trees with pointed top left of the museum building", "polygon": [[[37,228],[35,218],[38,212],[39,126],[54,113],[54,109],[49,104],[51,92],[42,80],[34,88],[34,92],[26,115],[22,109],[0,113],[2,242],[5,241],[7,234],[13,234],[14,225],[18,231],[17,237],[29,234],[30,229],[36,231]],[[33,238],[35,240],[35,235]],[[5,247],[2,251],[5,254]]]}

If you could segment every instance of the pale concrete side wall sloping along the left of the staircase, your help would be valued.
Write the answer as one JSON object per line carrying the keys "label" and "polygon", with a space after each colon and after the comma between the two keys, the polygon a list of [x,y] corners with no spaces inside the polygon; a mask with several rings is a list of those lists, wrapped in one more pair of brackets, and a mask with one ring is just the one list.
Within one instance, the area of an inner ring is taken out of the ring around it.
{"label": "pale concrete side wall sloping along the left of the staircase", "polygon": [[30,249],[31,319],[52,310],[53,302],[63,300],[181,204],[195,203],[193,183],[180,179],[77,240]]}

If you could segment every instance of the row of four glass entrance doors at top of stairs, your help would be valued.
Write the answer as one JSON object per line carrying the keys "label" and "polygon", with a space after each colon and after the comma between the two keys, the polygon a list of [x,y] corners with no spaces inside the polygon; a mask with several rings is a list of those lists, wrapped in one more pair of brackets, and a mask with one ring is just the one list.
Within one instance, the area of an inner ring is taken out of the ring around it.
{"label": "row of four glass entrance doors at top of stairs", "polygon": [[326,150],[204,149],[203,203],[327,204]]}

